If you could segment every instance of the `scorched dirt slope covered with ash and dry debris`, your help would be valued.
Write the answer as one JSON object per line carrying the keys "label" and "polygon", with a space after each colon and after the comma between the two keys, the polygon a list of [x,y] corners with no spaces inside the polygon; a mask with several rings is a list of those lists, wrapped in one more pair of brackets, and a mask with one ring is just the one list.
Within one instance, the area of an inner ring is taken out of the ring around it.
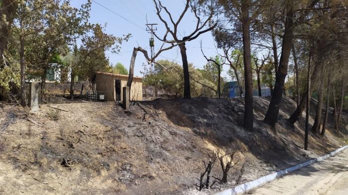
{"label": "scorched dirt slope covered with ash and dry debris", "polygon": [[[240,151],[231,186],[245,162],[240,182],[346,144],[346,113],[344,128],[333,130],[330,115],[330,138],[311,133],[305,151],[303,117],[286,121],[296,103],[283,98],[270,128],[261,121],[269,100],[254,98],[253,132],[243,130],[241,98],[159,98],[133,102],[130,112],[114,102],[43,104],[36,113],[0,103],[0,130],[9,124],[0,132],[0,194],[195,194],[202,161],[217,148]],[[221,177],[219,163],[212,175]]]}

